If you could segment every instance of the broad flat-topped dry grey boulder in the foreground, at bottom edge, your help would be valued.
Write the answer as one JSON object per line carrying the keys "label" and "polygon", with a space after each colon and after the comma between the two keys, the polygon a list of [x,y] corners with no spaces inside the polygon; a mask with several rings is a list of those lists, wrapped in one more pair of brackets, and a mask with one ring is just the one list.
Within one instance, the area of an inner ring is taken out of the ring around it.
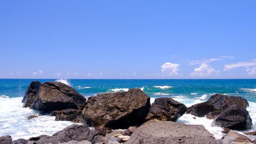
{"label": "broad flat-topped dry grey boulder in the foreground, at bottom edge", "polygon": [[215,144],[215,140],[202,125],[157,121],[140,126],[124,144]]}

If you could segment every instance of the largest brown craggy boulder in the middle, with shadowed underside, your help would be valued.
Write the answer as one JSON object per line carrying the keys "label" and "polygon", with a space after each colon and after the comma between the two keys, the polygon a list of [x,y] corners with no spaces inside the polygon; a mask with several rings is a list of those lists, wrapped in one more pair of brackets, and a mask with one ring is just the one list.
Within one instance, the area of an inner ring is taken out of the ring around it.
{"label": "largest brown craggy boulder in the middle, with shadowed underside", "polygon": [[129,127],[144,122],[150,109],[150,97],[140,89],[98,94],[87,102],[83,115],[86,126]]}

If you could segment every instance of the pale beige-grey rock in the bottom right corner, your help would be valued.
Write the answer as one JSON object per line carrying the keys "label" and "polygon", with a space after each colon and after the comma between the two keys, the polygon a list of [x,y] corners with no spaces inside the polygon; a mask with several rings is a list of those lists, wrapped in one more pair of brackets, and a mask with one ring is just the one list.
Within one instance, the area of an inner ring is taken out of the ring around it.
{"label": "pale beige-grey rock in the bottom right corner", "polygon": [[229,131],[228,134],[223,136],[216,144],[231,144],[232,142],[252,142],[249,138],[237,132]]}

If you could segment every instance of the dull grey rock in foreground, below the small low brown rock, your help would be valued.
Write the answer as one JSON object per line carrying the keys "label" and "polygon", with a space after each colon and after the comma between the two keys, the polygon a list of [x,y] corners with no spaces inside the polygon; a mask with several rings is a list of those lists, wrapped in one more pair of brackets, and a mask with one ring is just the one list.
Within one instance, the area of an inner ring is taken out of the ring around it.
{"label": "dull grey rock in foreground, below the small low brown rock", "polygon": [[72,124],[53,134],[52,136],[56,136],[56,139],[54,139],[52,144],[69,142],[71,140],[79,142],[82,140],[92,141],[96,135],[97,133],[94,130],[90,130],[84,125]]}

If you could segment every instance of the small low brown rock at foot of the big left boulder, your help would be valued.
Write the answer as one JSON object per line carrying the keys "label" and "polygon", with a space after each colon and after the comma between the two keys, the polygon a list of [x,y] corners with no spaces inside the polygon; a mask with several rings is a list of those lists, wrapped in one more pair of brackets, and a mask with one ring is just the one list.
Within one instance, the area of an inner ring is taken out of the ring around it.
{"label": "small low brown rock at foot of the big left boulder", "polygon": [[53,112],[50,113],[50,116],[56,116],[55,120],[65,120],[65,121],[73,121],[76,118],[81,116],[81,111],[68,108],[65,110],[54,110]]}

